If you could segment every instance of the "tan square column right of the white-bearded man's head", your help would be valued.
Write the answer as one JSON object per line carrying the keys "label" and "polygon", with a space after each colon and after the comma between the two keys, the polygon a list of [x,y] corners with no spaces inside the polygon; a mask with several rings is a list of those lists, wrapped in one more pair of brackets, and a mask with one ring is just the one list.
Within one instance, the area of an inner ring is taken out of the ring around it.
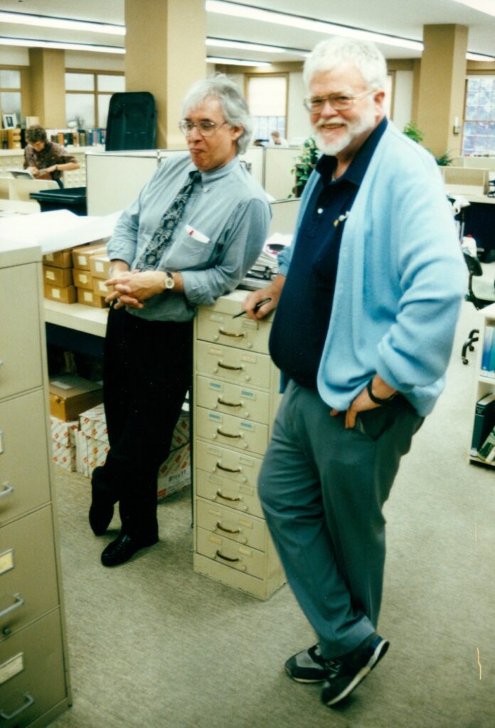
{"label": "tan square column right of the white-bearded man's head", "polygon": [[466,79],[467,32],[465,25],[424,25],[424,51],[419,76],[417,124],[425,132],[423,144],[436,157],[446,151],[461,154]]}

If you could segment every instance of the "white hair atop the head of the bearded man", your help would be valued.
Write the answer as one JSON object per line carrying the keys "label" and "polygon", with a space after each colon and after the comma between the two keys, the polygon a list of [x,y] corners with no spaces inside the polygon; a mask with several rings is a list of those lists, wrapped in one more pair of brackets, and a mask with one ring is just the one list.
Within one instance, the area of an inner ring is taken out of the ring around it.
{"label": "white hair atop the head of the bearded man", "polygon": [[339,36],[320,41],[306,58],[303,70],[306,88],[309,88],[318,71],[332,71],[345,63],[350,63],[360,71],[368,89],[384,89],[387,63],[376,45]]}

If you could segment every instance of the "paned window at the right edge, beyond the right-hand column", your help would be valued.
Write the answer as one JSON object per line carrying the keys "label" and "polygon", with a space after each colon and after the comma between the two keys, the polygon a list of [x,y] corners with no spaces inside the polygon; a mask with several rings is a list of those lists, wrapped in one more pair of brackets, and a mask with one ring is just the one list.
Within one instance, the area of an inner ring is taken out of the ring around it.
{"label": "paned window at the right edge, beyond the right-hand column", "polygon": [[467,78],[462,154],[495,154],[495,75]]}

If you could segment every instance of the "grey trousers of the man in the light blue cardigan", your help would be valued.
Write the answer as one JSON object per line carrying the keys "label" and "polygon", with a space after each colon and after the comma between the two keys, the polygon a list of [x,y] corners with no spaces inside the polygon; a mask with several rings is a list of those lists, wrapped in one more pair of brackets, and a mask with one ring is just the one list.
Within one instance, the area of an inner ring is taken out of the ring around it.
{"label": "grey trousers of the man in the light blue cardigan", "polygon": [[353,430],[293,381],[282,399],[259,496],[290,587],[331,659],[376,630],[385,561],[384,502],[423,418],[360,413]]}

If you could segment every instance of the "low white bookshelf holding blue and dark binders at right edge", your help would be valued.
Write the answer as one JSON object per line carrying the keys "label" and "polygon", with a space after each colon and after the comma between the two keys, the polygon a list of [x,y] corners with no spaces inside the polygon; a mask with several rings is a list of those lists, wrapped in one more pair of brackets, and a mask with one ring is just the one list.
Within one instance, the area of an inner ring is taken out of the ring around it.
{"label": "low white bookshelf holding blue and dark binders at right edge", "polygon": [[[475,454],[476,440],[479,445],[488,437],[495,426],[495,396],[491,403],[489,395],[495,395],[495,304],[490,304],[478,312],[480,317],[480,346],[478,346],[475,382],[474,419],[471,430],[469,458],[473,463],[495,467],[495,461],[486,462]],[[484,400],[484,406],[479,405]],[[477,433],[482,433],[477,434]]]}

